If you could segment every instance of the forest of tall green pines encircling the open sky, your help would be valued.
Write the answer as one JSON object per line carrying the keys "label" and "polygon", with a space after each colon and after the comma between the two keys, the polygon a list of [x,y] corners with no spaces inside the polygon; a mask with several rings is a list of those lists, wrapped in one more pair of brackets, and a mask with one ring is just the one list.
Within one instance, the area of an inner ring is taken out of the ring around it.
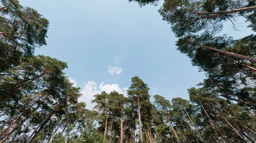
{"label": "forest of tall green pines encircling the open sky", "polygon": [[128,96],[103,91],[89,110],[67,63],[34,54],[47,45],[49,21],[0,0],[0,143],[256,143],[256,35],[218,35],[238,18],[256,32],[256,0],[165,0],[158,12],[206,79],[189,100],[169,101],[134,76]]}

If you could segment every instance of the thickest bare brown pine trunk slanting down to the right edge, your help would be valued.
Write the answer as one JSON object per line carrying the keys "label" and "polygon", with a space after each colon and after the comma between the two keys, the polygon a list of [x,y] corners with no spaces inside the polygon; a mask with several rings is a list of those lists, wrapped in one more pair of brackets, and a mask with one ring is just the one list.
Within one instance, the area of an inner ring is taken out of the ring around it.
{"label": "thickest bare brown pine trunk slanting down to the right edge", "polygon": [[[190,43],[190,44],[192,44],[192,43]],[[231,53],[231,52],[228,52],[228,51],[225,51],[225,50],[215,49],[215,48],[212,48],[212,47],[209,47],[209,46],[206,46],[206,45],[201,45],[201,44],[195,44],[195,45],[198,45],[198,46],[203,47],[203,48],[207,48],[209,50],[214,50],[218,53],[223,53],[223,54],[226,54],[228,56],[233,56],[233,57],[236,57],[236,58],[239,58],[239,59],[244,59],[244,60],[256,63],[256,59],[252,58],[252,57],[249,57],[249,56],[243,56],[243,55],[240,55],[240,54],[237,54],[237,53]]]}

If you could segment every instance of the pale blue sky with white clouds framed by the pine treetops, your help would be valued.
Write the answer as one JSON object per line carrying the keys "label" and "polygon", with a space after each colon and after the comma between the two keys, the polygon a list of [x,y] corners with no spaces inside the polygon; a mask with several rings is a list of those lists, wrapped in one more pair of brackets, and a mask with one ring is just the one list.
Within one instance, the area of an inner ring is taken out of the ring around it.
{"label": "pale blue sky with white clouds framed by the pine treetops", "polygon": [[[157,10],[162,5],[140,8],[128,0],[20,0],[50,22],[47,46],[35,55],[51,56],[68,63],[64,70],[81,101],[91,108],[93,95],[102,90],[124,93],[131,78],[139,76],[159,94],[172,100],[189,99],[187,89],[203,81],[203,73],[186,55],[177,51],[170,25]],[[243,21],[242,21],[243,22]],[[221,34],[235,38],[248,35],[247,28]],[[113,75],[112,75],[112,74]],[[102,83],[104,82],[104,83]]]}

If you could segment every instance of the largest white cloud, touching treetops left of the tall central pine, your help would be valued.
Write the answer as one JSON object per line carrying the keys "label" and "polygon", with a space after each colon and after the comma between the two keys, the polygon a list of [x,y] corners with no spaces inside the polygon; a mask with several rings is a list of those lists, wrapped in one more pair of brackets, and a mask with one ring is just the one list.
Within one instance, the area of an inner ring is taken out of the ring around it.
{"label": "largest white cloud, touching treetops left of the tall central pine", "polygon": [[85,102],[87,109],[93,109],[95,104],[91,103],[91,100],[94,99],[94,95],[101,93],[102,91],[105,91],[106,93],[110,93],[111,91],[117,91],[118,93],[122,93],[123,95],[127,96],[126,90],[128,90],[127,87],[120,88],[118,84],[104,84],[102,82],[99,84],[99,87],[97,87],[97,84],[95,81],[88,81],[87,84],[82,88],[81,97],[79,98],[79,102]]}

